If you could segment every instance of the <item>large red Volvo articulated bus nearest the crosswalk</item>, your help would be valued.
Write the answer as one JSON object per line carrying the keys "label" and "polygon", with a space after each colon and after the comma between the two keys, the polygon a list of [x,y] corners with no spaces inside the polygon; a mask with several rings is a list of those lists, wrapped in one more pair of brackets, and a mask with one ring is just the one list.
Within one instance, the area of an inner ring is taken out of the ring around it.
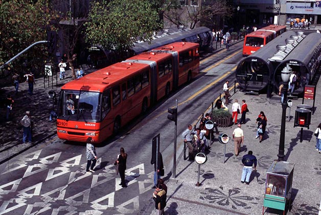
{"label": "large red Volvo articulated bus nearest the crosswalk", "polygon": [[100,143],[150,105],[199,73],[199,45],[175,42],[133,56],[63,85],[60,139]]}

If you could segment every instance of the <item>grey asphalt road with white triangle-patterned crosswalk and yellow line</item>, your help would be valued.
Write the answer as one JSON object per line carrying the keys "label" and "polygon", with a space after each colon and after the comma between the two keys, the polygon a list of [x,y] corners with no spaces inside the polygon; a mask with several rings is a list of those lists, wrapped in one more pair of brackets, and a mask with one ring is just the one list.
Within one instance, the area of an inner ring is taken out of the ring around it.
{"label": "grey asphalt road with white triangle-patterned crosswalk and yellow line", "polygon": [[[85,173],[85,145],[54,136],[0,166],[0,214],[148,214],[153,186],[151,140],[161,135],[165,177],[173,167],[174,122],[167,109],[178,99],[177,151],[180,134],[222,92],[223,83],[235,79],[242,58],[242,43],[220,51],[200,63],[200,75],[192,83],[162,99],[145,116],[137,117],[117,137],[98,146],[96,173]],[[122,188],[114,160],[120,147],[128,153]],[[177,154],[177,157],[179,156]],[[60,212],[59,212],[60,211]]]}

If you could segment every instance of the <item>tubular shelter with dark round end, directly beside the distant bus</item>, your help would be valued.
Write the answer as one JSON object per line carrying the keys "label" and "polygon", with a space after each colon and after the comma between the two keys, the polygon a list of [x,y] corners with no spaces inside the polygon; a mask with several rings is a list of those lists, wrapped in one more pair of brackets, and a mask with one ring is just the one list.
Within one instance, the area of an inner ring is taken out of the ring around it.
{"label": "tubular shelter with dark round end, directly beside the distant bus", "polygon": [[[236,80],[245,92],[260,92],[266,88],[269,82],[272,82],[273,72],[280,62],[270,61],[269,58],[278,53],[279,46],[284,46],[284,49],[287,49],[285,40],[290,39],[291,36],[296,36],[296,33],[285,32],[240,61],[236,69]],[[293,43],[296,42],[297,45],[303,38],[296,36]]]}

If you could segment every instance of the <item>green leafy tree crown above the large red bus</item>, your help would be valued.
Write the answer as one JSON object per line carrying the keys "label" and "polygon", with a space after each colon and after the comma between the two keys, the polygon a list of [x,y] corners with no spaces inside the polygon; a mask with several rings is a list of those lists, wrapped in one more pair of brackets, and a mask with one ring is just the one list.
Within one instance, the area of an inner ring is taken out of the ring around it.
{"label": "green leafy tree crown above the large red bus", "polygon": [[136,38],[151,40],[159,29],[158,13],[149,0],[97,1],[85,23],[86,41],[124,53]]}

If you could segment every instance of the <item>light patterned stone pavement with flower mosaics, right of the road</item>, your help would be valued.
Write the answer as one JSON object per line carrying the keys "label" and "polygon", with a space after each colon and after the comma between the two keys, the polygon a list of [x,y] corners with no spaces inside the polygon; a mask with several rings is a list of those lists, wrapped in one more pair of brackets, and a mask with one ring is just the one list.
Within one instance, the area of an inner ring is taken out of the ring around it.
{"label": "light patterned stone pavement with flower mosaics, right of the road", "polygon": [[[288,214],[318,214],[320,208],[321,189],[321,154],[315,150],[313,135],[320,123],[321,84],[316,89],[316,111],[312,116],[310,130],[304,129],[303,142],[300,142],[301,128],[293,127],[296,106],[302,104],[302,99],[292,100],[290,121],[286,119],[285,159],[294,163],[292,184],[293,204]],[[266,170],[273,160],[277,160],[281,130],[282,106],[280,97],[273,95],[271,99],[263,95],[245,95],[238,91],[232,99],[242,99],[248,104],[247,122],[242,125],[244,144],[241,153],[234,155],[234,142],[226,144],[226,158],[223,162],[224,145],[214,140],[208,160],[200,166],[200,183],[197,187],[198,164],[185,161],[182,152],[176,168],[177,177],[169,179],[166,214],[262,214],[265,191]],[[215,98],[214,98],[215,99]],[[233,102],[233,101],[232,101]],[[305,100],[311,105],[313,101]],[[232,107],[232,103],[228,105]],[[256,118],[260,111],[267,116],[266,135],[262,141],[256,139]],[[289,111],[289,109],[287,109]],[[288,112],[287,112],[288,116]],[[240,115],[238,116],[240,119]],[[237,125],[219,128],[220,133],[226,133],[232,138]],[[179,136],[180,134],[178,134]],[[216,137],[217,138],[217,137]],[[180,141],[180,140],[178,140]],[[253,172],[250,184],[241,183],[242,156],[252,150],[258,159],[257,172]],[[154,208],[154,203],[149,207]],[[157,214],[154,210],[151,214]],[[265,214],[283,214],[283,211],[267,209]]]}

